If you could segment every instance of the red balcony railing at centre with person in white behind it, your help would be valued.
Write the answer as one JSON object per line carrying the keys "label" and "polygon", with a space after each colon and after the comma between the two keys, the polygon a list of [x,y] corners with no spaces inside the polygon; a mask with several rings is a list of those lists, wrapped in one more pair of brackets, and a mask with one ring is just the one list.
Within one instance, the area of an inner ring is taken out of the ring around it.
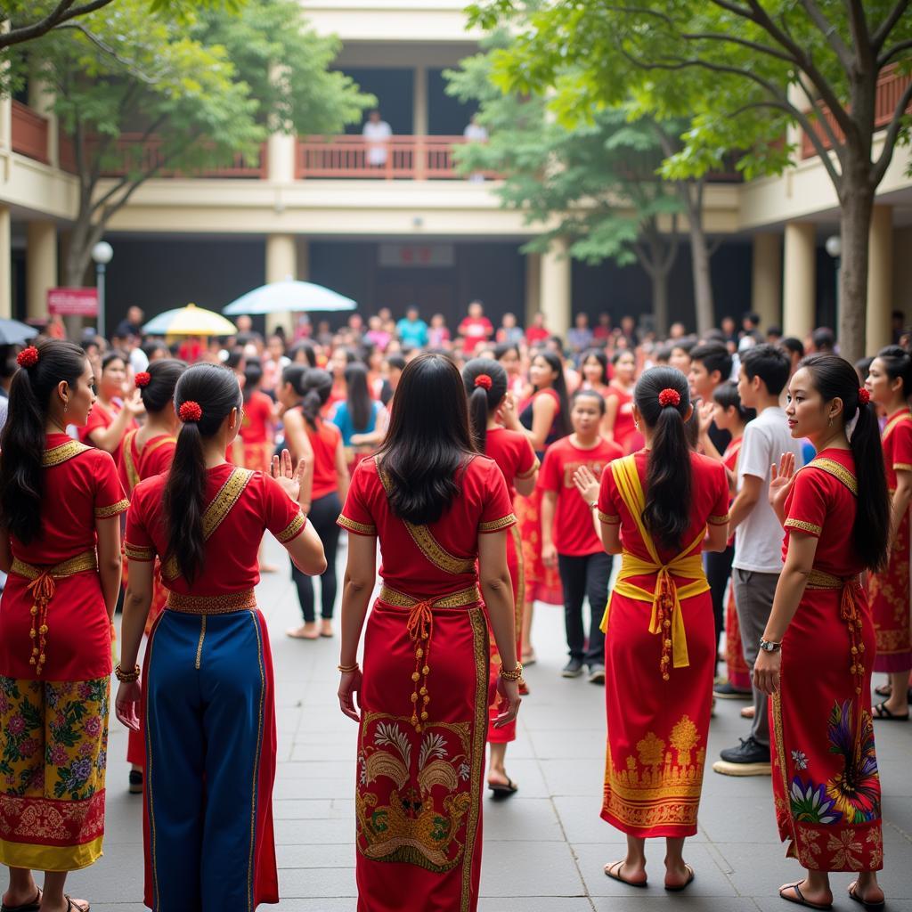
{"label": "red balcony railing at centre with person in white behind it", "polygon": [[[461,136],[392,136],[386,142],[362,136],[306,136],[297,142],[295,178],[373,180],[465,180],[453,150]],[[494,178],[493,172],[482,172]]]}

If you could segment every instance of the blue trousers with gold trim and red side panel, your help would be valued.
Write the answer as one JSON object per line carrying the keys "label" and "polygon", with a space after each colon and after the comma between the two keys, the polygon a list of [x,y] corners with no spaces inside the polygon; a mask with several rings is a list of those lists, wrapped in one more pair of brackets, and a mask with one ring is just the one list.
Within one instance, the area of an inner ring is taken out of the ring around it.
{"label": "blue trousers with gold trim and red side panel", "polygon": [[146,905],[252,912],[278,902],[275,698],[263,616],[165,611],[143,677]]}

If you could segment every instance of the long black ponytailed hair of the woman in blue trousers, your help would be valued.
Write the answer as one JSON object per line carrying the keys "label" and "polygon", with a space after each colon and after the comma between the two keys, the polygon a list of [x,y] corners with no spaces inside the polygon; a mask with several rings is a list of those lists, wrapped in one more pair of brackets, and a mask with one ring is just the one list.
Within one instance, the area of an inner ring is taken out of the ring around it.
{"label": "long black ponytailed hair of the woman in blue trousers", "polygon": [[199,572],[205,555],[203,440],[211,438],[222,427],[232,409],[240,409],[241,401],[241,387],[233,370],[215,364],[196,364],[187,368],[174,390],[174,410],[178,415],[185,402],[195,402],[202,411],[200,420],[183,422],[164,492],[167,556],[177,559],[181,575],[188,583],[192,583]]}

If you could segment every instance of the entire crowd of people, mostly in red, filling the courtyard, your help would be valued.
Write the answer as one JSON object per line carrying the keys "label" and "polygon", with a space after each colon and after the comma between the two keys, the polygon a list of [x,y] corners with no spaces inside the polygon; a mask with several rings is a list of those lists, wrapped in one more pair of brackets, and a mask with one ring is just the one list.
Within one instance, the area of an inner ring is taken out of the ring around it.
{"label": "entire crowd of people, mostly in red, filling the courtyard", "polygon": [[661,837],[664,886],[689,886],[715,700],[742,700],[712,770],[771,776],[804,869],[782,898],[829,908],[852,871],[883,906],[876,723],[912,695],[901,316],[857,365],[753,314],[667,338],[579,314],[562,338],[474,301],[452,331],[410,307],[173,343],[141,320],[0,358],[4,912],[88,908],[65,881],[101,853],[115,663],[146,904],[278,901],[266,530],[287,636],[340,639],[360,912],[476,907],[536,602],[563,606],[561,674],[605,688],[606,876],[644,886]]}

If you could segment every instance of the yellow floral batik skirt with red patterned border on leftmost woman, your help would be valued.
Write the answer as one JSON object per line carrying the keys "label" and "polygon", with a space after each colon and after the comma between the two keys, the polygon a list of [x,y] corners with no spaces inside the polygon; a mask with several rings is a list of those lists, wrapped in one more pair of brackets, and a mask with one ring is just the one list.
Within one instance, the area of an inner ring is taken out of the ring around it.
{"label": "yellow floral batik skirt with red patterned border on leftmost woman", "polygon": [[0,677],[0,863],[75,871],[105,824],[110,679]]}

